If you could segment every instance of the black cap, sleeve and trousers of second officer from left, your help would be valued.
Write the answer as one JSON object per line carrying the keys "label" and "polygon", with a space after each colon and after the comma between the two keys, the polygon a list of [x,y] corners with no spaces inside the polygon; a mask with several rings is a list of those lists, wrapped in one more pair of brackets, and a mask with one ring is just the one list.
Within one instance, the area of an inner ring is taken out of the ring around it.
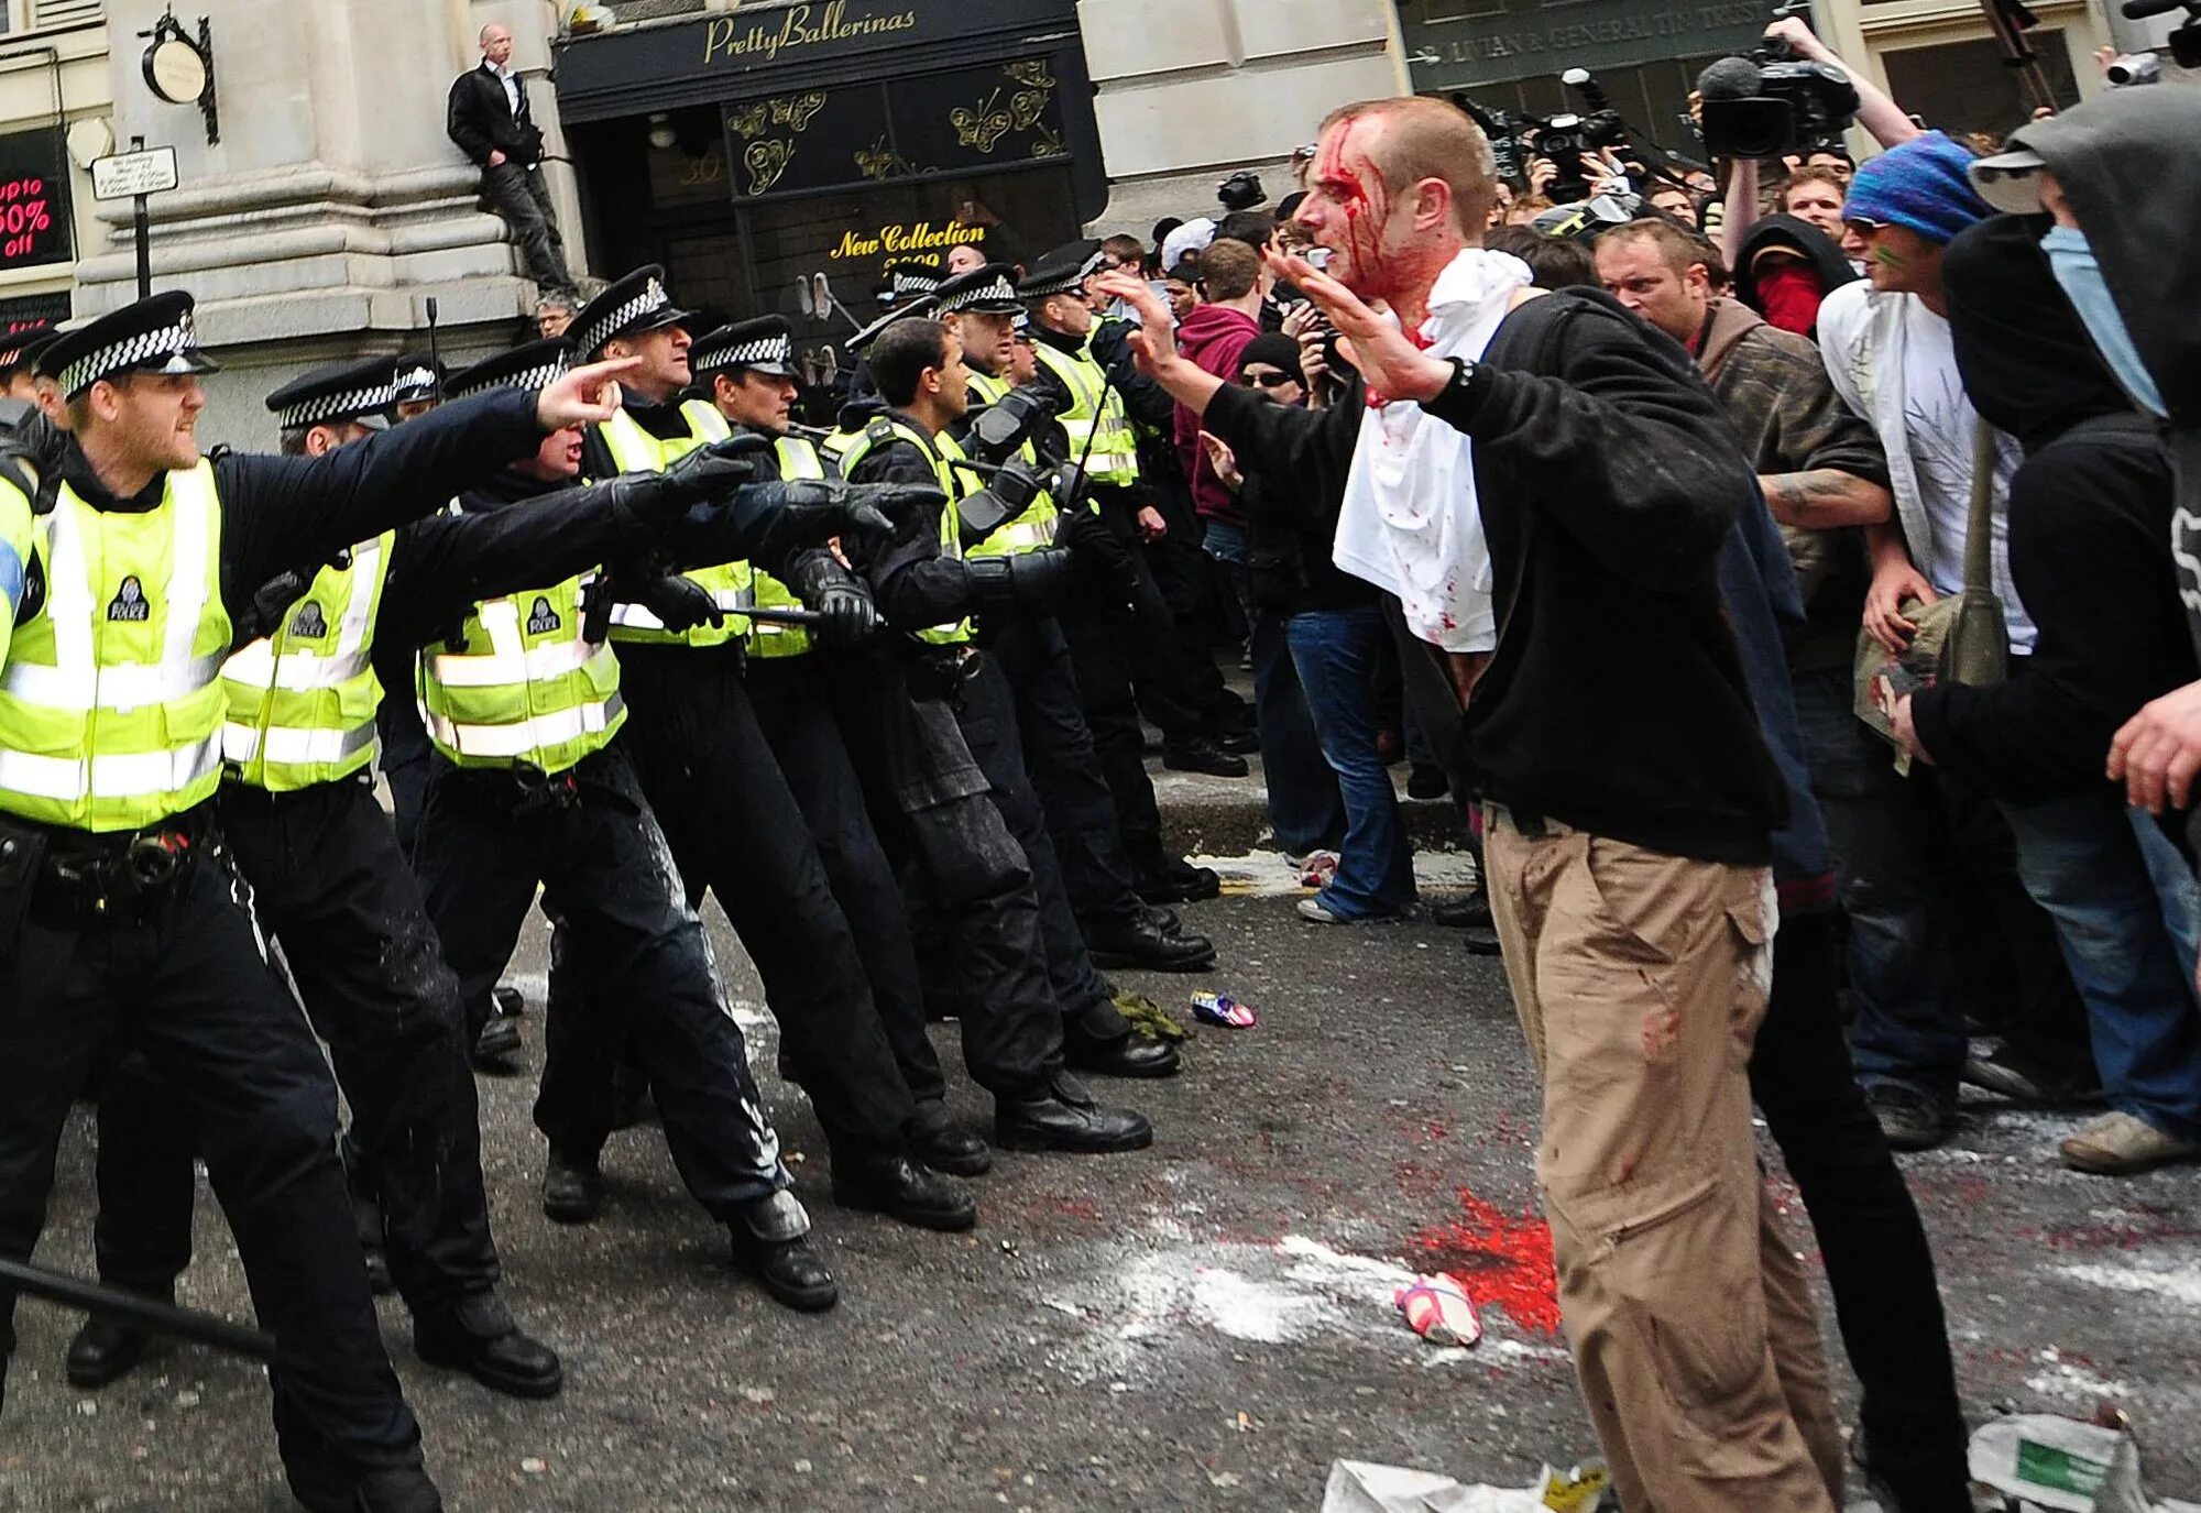
{"label": "black cap, sleeve and trousers of second officer from left", "polygon": [[[387,361],[379,367],[387,385]],[[357,400],[372,389],[370,372],[348,367],[310,374],[269,402],[291,427],[317,398]],[[574,490],[533,510],[414,521],[392,539],[376,640],[416,647],[473,598],[544,572],[581,572],[634,534],[632,517]],[[310,583],[310,572],[297,574],[262,600],[291,614],[299,576]],[[409,702],[407,684],[394,699]],[[517,1337],[491,1297],[500,1271],[458,981],[372,778],[295,792],[229,781],[220,822],[260,926],[282,946],[306,1016],[328,1042],[352,1108],[354,1174],[381,1203],[390,1273],[423,1352],[502,1390],[555,1392],[557,1357]],[[101,1093],[95,1229],[101,1278],[158,1293],[189,1260],[194,1185],[189,1146],[163,1106],[176,1108],[156,1078],[123,1073]]]}

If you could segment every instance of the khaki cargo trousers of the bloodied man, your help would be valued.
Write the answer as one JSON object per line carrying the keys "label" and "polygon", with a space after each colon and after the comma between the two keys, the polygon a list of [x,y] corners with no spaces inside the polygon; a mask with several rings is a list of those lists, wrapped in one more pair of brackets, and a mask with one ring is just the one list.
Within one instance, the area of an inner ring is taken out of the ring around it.
{"label": "khaki cargo trousers of the bloodied man", "polygon": [[1842,1436],[1818,1315],[1750,1128],[1767,873],[1501,807],[1486,855],[1543,1078],[1561,1313],[1622,1509],[1831,1513]]}

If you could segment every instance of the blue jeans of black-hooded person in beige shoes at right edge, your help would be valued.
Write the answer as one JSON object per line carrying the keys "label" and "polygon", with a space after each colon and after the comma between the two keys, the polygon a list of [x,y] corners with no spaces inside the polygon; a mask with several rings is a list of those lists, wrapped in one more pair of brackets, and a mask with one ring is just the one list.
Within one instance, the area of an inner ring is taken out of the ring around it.
{"label": "blue jeans of black-hooded person in beige shoes at right edge", "polygon": [[2025,888],[2056,919],[2087,1001],[2109,1106],[2201,1139],[2201,888],[2157,829],[2106,783],[2047,803],[2005,803]]}

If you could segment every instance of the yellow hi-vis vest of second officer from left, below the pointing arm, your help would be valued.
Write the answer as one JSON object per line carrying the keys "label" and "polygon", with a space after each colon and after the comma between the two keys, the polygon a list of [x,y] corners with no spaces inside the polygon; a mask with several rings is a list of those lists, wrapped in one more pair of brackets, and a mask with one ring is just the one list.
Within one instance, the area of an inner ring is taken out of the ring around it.
{"label": "yellow hi-vis vest of second officer from left, below the pointing arm", "polygon": [[244,783],[291,794],[335,783],[374,763],[374,618],[396,532],[352,548],[343,567],[321,567],[284,609],[282,629],[222,666],[229,724],[222,761]]}

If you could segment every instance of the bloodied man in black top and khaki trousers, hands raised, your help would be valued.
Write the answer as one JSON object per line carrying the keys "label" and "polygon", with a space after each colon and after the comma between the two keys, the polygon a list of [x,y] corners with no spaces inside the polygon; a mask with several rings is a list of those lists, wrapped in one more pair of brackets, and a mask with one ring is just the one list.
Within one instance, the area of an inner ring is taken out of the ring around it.
{"label": "bloodied man in black top and khaki trousers, hands raised", "polygon": [[[1145,361],[1241,457],[1347,460],[1338,565],[1477,653],[1490,895],[1545,1082],[1567,1333],[1622,1504],[1829,1513],[1840,1434],[1737,1056],[1765,1007],[1785,811],[1715,572],[1756,479],[1686,354],[1602,292],[1532,295],[1519,259],[1481,251],[1492,156],[1457,108],[1334,112],[1307,191],[1332,273],[1279,275],[1351,341],[1354,398],[1290,411],[1224,387],[1175,356],[1160,301],[1120,288]],[[1677,1372],[1704,1392],[1679,1401]]]}

